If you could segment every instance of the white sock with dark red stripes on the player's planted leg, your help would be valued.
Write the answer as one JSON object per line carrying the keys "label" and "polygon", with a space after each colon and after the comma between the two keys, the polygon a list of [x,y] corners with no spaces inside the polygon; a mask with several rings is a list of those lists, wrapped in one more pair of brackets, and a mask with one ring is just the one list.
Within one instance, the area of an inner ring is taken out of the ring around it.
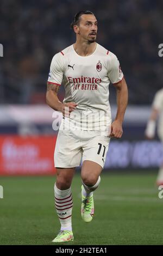
{"label": "white sock with dark red stripes on the player's planted leg", "polygon": [[68,190],[59,190],[54,185],[55,208],[61,224],[61,230],[72,231],[72,193],[71,187]]}

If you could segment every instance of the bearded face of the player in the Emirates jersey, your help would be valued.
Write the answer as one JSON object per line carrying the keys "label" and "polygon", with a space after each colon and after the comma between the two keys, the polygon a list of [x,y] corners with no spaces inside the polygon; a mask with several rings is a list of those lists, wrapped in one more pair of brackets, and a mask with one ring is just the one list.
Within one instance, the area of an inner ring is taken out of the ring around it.
{"label": "bearded face of the player in the Emirates jersey", "polygon": [[95,42],[97,36],[97,20],[94,15],[82,15],[79,34],[88,42]]}

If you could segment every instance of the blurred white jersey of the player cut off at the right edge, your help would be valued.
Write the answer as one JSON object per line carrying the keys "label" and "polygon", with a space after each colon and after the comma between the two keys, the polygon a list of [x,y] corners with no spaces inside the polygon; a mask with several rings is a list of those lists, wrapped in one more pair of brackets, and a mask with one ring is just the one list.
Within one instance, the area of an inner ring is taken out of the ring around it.
{"label": "blurred white jersey of the player cut off at the right edge", "polygon": [[159,111],[158,135],[163,140],[163,89],[156,92],[152,107]]}

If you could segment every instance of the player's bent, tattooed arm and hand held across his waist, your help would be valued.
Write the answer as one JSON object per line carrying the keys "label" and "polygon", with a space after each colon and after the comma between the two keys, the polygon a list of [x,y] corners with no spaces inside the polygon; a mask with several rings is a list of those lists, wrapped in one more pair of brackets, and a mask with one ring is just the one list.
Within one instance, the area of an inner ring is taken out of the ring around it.
{"label": "player's bent, tattooed arm and hand held across his waist", "polygon": [[65,106],[68,107],[66,109],[67,115],[70,115],[74,109],[76,109],[77,104],[75,102],[62,103],[59,101],[57,93],[59,90],[59,86],[57,84],[53,84],[51,82],[47,82],[47,92],[46,92],[46,103],[55,111],[60,111],[65,115]]}

